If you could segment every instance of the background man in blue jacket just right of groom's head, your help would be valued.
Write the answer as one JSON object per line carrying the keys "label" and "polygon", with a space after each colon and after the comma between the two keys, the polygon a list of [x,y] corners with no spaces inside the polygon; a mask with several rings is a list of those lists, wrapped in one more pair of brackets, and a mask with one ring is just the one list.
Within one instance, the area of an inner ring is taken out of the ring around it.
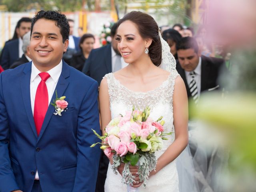
{"label": "background man in blue jacket just right of groom's head", "polygon": [[63,54],[63,59],[67,64],[70,65],[72,56],[74,54],[80,52],[81,49],[79,46],[80,37],[76,37],[73,35],[75,22],[72,19],[68,19],[68,23],[70,26],[70,32],[69,32],[69,36],[68,36],[69,44],[68,44],[67,51]]}

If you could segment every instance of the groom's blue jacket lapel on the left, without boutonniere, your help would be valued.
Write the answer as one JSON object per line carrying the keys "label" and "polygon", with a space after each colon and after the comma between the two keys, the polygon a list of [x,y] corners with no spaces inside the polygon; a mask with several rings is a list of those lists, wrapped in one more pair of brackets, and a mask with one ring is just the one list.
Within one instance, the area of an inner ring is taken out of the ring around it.
{"label": "groom's blue jacket lapel on the left, without boutonniere", "polygon": [[31,108],[31,98],[30,98],[31,62],[25,65],[23,72],[24,72],[24,75],[20,78],[22,98],[23,98],[25,110],[28,116],[30,127],[32,128],[32,131],[37,137],[36,126],[35,126],[34,117],[33,117],[32,108]]}

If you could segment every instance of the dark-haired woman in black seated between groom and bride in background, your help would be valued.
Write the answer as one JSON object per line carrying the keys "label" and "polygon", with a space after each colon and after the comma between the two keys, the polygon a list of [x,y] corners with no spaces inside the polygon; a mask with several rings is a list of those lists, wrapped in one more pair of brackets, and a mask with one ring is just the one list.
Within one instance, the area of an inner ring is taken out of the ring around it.
{"label": "dark-haired woman in black seated between groom and bride in background", "polygon": [[82,71],[84,67],[84,63],[88,58],[91,50],[93,49],[94,43],[95,43],[95,38],[93,34],[90,34],[90,33],[84,34],[80,38],[80,43],[79,43],[80,49],[82,51],[73,55],[70,62],[70,66],[76,68],[77,70]]}

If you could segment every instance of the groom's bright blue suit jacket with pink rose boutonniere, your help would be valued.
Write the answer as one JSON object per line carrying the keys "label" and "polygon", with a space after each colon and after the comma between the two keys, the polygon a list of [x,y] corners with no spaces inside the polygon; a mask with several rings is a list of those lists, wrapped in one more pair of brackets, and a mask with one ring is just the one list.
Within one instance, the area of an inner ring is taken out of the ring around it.
{"label": "groom's bright blue suit jacket with pink rose boutonniere", "polygon": [[[38,170],[42,191],[93,192],[100,149],[98,84],[63,62],[56,90],[68,109],[49,105],[37,136],[30,104],[31,62],[0,74],[0,191],[30,192]],[[52,100],[56,98],[55,93]]]}

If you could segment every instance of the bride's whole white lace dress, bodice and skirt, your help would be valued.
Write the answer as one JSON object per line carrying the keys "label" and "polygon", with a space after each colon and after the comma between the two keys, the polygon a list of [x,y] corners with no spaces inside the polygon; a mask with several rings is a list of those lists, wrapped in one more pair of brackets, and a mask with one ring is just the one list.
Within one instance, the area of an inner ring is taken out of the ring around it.
{"label": "bride's whole white lace dress, bodice and skirt", "polygon": [[[112,73],[106,74],[108,92],[110,96],[110,110],[112,118],[118,114],[131,111],[132,106],[144,109],[150,106],[150,117],[157,120],[163,116],[164,132],[174,132],[172,96],[174,92],[175,79],[178,76],[176,70],[172,70],[167,80],[158,88],[148,92],[134,92],[123,86]],[[159,158],[174,141],[175,134],[164,140],[163,147],[158,150],[156,158]],[[111,166],[105,182],[105,192],[126,192],[127,186],[121,182],[121,175],[114,174]],[[140,186],[140,192],[179,192],[179,179],[175,160],[162,168],[157,174],[151,176],[147,182],[146,189]]]}

